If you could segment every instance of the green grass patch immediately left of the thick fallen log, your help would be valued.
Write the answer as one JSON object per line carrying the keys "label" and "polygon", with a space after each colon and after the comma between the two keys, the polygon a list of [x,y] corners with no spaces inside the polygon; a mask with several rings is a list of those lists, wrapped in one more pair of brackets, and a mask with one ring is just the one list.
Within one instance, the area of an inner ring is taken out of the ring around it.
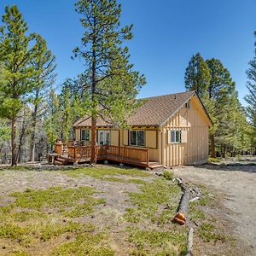
{"label": "green grass patch immediately left of the thick fallen log", "polygon": [[[180,197],[179,187],[161,178],[145,183],[139,189],[141,193],[129,193],[131,203],[136,208],[126,209],[125,219],[134,223],[144,219],[158,223],[168,222],[170,219],[162,217],[165,214],[174,214]],[[172,206],[173,202],[176,207]],[[172,207],[166,207],[166,204]]]}

